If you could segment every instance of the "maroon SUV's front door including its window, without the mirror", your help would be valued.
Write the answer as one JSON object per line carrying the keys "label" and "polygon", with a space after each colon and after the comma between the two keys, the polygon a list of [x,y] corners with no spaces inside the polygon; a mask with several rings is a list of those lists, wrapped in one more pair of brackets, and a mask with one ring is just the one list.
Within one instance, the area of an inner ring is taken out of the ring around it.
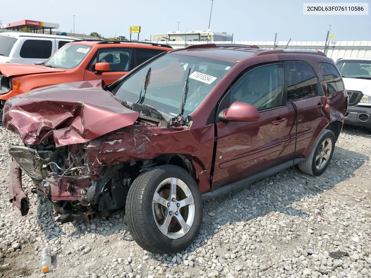
{"label": "maroon SUV's front door including its window, without the mirror", "polygon": [[[217,122],[217,145],[211,190],[270,168],[287,137],[289,109],[282,106],[283,65],[269,64],[244,74],[223,97],[218,111],[234,101],[254,105],[257,122]],[[292,124],[292,123],[291,123]]]}

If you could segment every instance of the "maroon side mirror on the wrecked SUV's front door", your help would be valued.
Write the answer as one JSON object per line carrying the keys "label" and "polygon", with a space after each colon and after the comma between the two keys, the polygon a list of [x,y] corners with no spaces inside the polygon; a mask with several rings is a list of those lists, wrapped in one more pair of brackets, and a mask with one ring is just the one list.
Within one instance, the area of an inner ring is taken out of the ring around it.
{"label": "maroon side mirror on the wrecked SUV's front door", "polygon": [[228,109],[222,111],[219,118],[222,121],[256,122],[260,119],[260,116],[255,106],[236,101]]}

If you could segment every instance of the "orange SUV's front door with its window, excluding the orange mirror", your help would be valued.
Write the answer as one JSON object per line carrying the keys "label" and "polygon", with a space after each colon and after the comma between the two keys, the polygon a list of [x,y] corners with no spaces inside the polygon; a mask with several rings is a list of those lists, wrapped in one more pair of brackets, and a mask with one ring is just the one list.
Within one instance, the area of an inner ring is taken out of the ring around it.
{"label": "orange SUV's front door with its window, excluding the orange mirror", "polygon": [[[109,72],[95,73],[95,64],[109,63]],[[124,47],[101,48],[85,69],[84,80],[103,79],[110,84],[125,75],[132,68],[132,49]]]}

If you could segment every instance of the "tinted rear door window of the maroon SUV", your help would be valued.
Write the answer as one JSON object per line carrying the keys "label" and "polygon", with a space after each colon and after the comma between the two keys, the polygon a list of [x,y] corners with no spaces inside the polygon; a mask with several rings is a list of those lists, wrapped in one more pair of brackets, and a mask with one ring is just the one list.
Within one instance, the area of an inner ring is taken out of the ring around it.
{"label": "tinted rear door window of the maroon SUV", "polygon": [[287,101],[317,95],[317,76],[313,68],[303,62],[285,63],[287,70]]}

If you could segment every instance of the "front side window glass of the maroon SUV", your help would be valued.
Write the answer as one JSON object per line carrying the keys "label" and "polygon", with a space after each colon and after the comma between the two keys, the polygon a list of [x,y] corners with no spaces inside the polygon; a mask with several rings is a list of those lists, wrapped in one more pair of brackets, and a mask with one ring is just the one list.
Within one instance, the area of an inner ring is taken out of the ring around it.
{"label": "front side window glass of the maroon SUV", "polygon": [[257,110],[282,104],[283,70],[281,64],[258,67],[237,81],[230,92],[230,104],[235,101],[249,103]]}

